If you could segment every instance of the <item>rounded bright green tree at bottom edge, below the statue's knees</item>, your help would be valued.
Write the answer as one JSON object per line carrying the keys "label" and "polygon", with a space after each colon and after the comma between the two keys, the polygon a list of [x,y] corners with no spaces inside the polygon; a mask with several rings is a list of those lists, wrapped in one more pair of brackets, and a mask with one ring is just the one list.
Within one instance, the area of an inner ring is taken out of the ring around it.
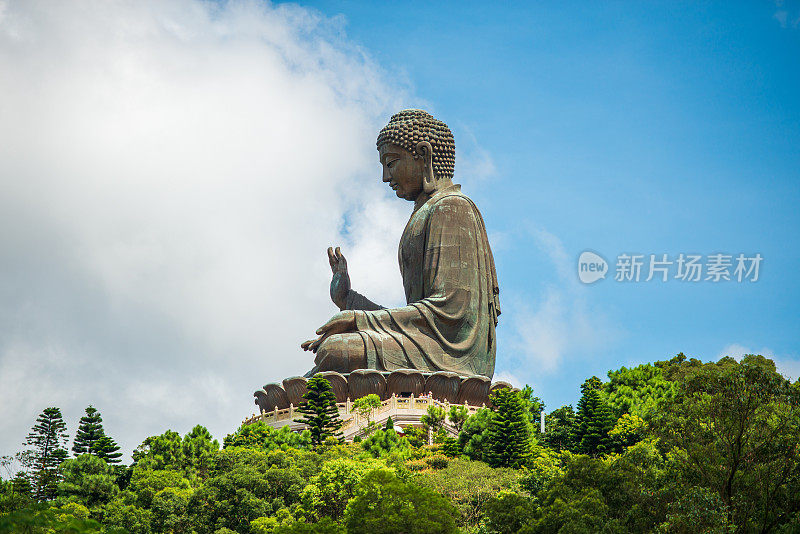
{"label": "rounded bright green tree at bottom edge, below the statue's knees", "polygon": [[456,510],[441,495],[377,469],[360,484],[345,511],[348,534],[456,533]]}

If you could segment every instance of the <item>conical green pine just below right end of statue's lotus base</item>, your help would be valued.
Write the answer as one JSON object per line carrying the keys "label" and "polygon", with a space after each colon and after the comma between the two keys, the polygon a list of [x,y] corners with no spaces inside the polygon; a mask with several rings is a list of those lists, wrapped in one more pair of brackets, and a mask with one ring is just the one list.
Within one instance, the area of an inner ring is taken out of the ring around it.
{"label": "conical green pine just below right end of statue's lotus base", "polygon": [[532,429],[525,401],[508,388],[491,395],[494,414],[489,421],[486,461],[493,467],[520,467],[531,454]]}

